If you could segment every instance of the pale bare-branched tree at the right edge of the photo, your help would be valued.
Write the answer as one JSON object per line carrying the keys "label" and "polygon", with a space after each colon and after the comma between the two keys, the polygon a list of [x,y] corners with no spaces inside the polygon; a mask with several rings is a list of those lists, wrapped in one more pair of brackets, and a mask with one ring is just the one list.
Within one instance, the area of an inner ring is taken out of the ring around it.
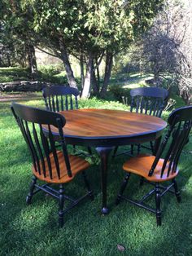
{"label": "pale bare-branched tree at the right edge of the photo", "polygon": [[154,74],[155,85],[159,85],[159,77],[172,77],[186,104],[192,100],[191,22],[191,2],[166,0],[151,29],[137,44],[137,60],[145,72]]}

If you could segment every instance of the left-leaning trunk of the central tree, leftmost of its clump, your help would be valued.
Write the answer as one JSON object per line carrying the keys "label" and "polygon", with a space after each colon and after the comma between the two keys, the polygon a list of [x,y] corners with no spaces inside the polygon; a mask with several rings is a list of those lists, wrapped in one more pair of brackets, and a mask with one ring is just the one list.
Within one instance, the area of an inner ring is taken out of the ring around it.
{"label": "left-leaning trunk of the central tree, leftmost of its clump", "polygon": [[68,77],[68,84],[71,87],[74,87],[74,88],[77,89],[76,80],[75,80],[75,77],[74,77],[73,72],[72,72],[71,64],[68,60],[68,52],[67,52],[66,47],[63,43],[63,40],[60,40],[59,46],[60,46],[60,51],[61,51],[65,71],[66,71],[66,74],[67,74],[67,77]]}

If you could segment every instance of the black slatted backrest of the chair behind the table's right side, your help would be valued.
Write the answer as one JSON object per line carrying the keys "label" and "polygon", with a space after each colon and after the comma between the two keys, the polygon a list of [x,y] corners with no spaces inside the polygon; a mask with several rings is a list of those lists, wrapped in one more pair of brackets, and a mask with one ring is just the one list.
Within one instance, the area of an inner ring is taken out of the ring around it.
{"label": "black slatted backrest of the chair behind the table's right side", "polygon": [[130,90],[131,108],[136,113],[161,117],[168,99],[168,90],[159,87],[140,87]]}

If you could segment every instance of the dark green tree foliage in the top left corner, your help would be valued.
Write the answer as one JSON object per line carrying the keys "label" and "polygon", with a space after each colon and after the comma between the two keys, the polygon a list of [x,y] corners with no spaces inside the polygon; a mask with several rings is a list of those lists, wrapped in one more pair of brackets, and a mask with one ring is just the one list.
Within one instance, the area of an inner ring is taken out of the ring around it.
{"label": "dark green tree foliage in the top left corner", "polygon": [[27,63],[32,78],[35,78],[37,63],[34,46],[37,42],[32,29],[33,12],[30,8],[24,10],[22,1],[3,0],[1,5],[2,45],[11,53],[11,58],[15,59],[14,62]]}

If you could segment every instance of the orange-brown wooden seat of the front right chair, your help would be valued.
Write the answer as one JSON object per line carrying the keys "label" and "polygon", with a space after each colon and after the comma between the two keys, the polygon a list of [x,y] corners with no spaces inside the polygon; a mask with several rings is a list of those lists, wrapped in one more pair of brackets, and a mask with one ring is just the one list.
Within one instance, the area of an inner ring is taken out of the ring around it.
{"label": "orange-brown wooden seat of the front right chair", "polygon": [[164,164],[164,159],[162,158],[159,159],[159,162],[155,168],[154,174],[152,176],[148,176],[154,160],[155,160],[155,156],[141,154],[141,155],[138,155],[137,157],[133,157],[128,161],[126,161],[123,165],[123,169],[130,173],[140,175],[152,182],[153,181],[164,182],[166,180],[173,179],[177,176],[179,171],[178,169],[174,173],[172,173],[172,170],[171,170],[169,176],[167,177],[167,174],[168,174],[168,163],[167,163],[167,166],[164,170],[163,177],[162,178],[160,177],[161,169]]}

